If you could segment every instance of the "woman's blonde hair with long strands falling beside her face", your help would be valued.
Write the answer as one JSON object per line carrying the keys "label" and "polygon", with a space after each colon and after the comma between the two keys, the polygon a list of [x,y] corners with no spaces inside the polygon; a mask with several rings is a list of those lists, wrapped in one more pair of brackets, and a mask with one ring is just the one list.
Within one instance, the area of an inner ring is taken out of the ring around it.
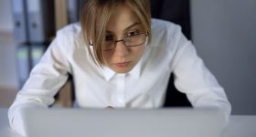
{"label": "woman's blonde hair with long strands falling beside her face", "polygon": [[[148,0],[87,0],[80,11],[80,24],[90,56],[98,65],[104,64],[101,46],[105,42],[106,26],[118,5],[129,5],[140,19],[151,41],[151,14]],[[90,45],[93,44],[93,50]],[[94,55],[94,56],[93,56]]]}

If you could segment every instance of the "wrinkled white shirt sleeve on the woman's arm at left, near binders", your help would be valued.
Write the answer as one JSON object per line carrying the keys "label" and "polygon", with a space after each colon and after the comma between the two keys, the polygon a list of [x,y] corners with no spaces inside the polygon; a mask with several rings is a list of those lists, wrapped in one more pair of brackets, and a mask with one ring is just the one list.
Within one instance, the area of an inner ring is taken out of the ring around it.
{"label": "wrinkled white shirt sleeve on the woman's arm at left, near binders", "polygon": [[26,108],[48,108],[54,102],[54,95],[68,79],[69,44],[62,33],[52,41],[37,66],[32,69],[24,87],[18,91],[16,100],[8,110],[11,127],[26,135],[23,112]]}

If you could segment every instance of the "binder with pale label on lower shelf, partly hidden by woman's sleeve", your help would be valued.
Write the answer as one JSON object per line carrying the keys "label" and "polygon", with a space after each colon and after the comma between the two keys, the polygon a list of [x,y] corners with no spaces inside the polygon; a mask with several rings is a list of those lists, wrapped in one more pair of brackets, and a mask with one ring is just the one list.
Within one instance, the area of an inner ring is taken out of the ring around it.
{"label": "binder with pale label on lower shelf, partly hidden by woman's sleeve", "polygon": [[31,68],[34,68],[37,65],[39,60],[44,55],[45,50],[45,45],[31,45]]}

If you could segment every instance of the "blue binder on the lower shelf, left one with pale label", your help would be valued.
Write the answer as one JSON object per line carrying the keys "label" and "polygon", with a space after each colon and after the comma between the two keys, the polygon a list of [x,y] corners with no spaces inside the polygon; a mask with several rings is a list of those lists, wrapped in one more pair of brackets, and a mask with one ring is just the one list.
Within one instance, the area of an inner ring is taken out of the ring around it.
{"label": "blue binder on the lower shelf, left one with pale label", "polygon": [[21,88],[27,81],[30,73],[29,46],[19,45],[16,48],[16,68],[18,74],[19,87]]}

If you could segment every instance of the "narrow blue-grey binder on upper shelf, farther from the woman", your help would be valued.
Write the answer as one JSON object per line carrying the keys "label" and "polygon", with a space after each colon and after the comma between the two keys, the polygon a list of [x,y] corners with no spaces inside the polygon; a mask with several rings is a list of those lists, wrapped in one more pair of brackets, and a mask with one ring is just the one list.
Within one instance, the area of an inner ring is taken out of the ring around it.
{"label": "narrow blue-grey binder on upper shelf, farther from the woman", "polygon": [[14,36],[17,43],[26,43],[27,34],[27,7],[25,0],[12,0],[14,19]]}

